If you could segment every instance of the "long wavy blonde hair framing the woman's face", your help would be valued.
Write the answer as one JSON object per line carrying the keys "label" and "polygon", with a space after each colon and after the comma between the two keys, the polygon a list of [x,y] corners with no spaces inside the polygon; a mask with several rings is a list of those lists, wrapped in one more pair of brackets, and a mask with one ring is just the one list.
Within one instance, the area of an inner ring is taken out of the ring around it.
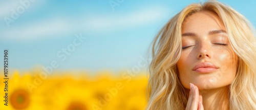
{"label": "long wavy blonde hair framing the woman's face", "polygon": [[155,37],[146,109],[185,109],[188,96],[179,80],[176,65],[182,52],[181,28],[187,16],[200,11],[211,11],[220,17],[231,47],[239,57],[236,78],[229,86],[229,108],[256,109],[255,29],[242,14],[218,1],[185,7]]}

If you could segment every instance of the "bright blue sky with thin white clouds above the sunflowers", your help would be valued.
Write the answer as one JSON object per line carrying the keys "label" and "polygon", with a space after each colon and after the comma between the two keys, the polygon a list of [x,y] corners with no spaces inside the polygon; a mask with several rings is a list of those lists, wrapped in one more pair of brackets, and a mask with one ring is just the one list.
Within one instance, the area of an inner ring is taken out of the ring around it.
{"label": "bright blue sky with thin white clouds above the sunflowers", "polygon": [[[0,56],[3,59],[8,49],[10,68],[18,70],[48,66],[53,60],[58,61],[58,69],[131,69],[140,56],[146,57],[152,39],[170,17],[203,1],[111,2],[116,6],[103,0],[0,0]],[[255,1],[220,2],[256,26]],[[8,27],[5,19],[12,18],[13,10],[20,13]],[[57,53],[80,33],[86,39],[61,61]]]}

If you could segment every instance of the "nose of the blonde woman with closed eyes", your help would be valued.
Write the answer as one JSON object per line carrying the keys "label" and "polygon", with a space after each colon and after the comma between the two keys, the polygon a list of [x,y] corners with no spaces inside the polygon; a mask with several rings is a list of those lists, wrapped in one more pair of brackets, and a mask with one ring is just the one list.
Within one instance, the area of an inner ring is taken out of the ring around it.
{"label": "nose of the blonde woman with closed eyes", "polygon": [[198,47],[197,58],[198,59],[211,58],[211,56],[212,56],[211,46],[209,44],[202,43]]}

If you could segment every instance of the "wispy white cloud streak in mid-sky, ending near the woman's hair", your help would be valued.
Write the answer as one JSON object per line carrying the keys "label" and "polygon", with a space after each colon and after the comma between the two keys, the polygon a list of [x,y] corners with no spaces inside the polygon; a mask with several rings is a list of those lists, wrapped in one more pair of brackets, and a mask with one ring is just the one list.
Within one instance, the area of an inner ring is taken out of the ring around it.
{"label": "wispy white cloud streak in mid-sky, ending near the woman's hair", "polygon": [[118,16],[91,16],[84,21],[84,26],[90,31],[110,31],[113,29],[150,25],[166,18],[168,14],[165,8],[150,7]]}

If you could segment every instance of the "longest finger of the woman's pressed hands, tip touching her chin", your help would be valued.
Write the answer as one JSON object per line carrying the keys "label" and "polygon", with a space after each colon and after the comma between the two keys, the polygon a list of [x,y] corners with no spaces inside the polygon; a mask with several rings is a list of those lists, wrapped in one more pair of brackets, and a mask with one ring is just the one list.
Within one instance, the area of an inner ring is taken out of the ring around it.
{"label": "longest finger of the woman's pressed hands, tip touching her chin", "polygon": [[199,103],[199,91],[198,91],[198,87],[194,84],[192,84],[194,86],[194,90],[193,90],[193,97],[192,97],[192,102],[191,102],[191,107],[190,109],[198,109],[198,103]]}

